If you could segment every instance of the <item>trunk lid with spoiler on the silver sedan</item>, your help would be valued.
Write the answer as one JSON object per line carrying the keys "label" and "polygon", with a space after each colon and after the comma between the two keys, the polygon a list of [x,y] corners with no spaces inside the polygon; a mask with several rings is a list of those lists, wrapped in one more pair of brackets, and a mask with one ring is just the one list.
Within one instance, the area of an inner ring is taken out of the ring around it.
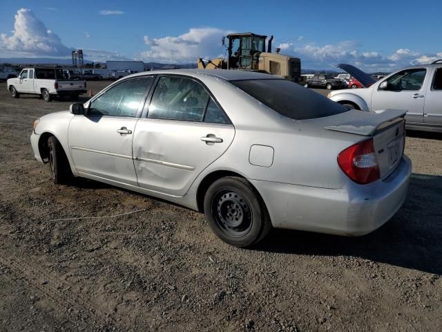
{"label": "trunk lid with spoiler on the silver sedan", "polygon": [[396,169],[405,147],[405,111],[376,112],[350,110],[322,118],[324,129],[373,138],[381,178]]}

